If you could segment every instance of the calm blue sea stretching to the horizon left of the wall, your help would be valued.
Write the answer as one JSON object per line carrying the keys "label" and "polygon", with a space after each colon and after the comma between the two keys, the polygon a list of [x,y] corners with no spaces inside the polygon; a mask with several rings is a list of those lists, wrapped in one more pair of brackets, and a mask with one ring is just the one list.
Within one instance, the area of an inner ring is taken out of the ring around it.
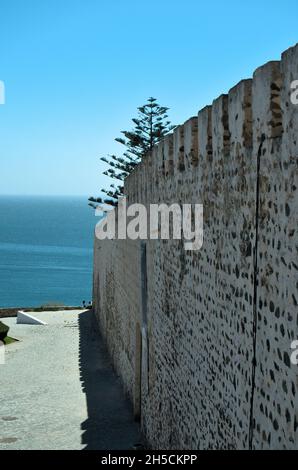
{"label": "calm blue sea stretching to the horizon left of the wall", "polygon": [[86,197],[0,196],[0,307],[89,302],[96,222]]}

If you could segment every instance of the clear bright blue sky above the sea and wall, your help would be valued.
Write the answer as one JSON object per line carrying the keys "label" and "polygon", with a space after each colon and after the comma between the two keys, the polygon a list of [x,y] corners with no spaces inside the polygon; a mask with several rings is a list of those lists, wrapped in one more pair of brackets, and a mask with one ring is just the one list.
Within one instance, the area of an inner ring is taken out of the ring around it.
{"label": "clear bright blue sky above the sea and wall", "polygon": [[98,195],[149,96],[184,122],[298,41],[297,0],[0,0],[0,194]]}

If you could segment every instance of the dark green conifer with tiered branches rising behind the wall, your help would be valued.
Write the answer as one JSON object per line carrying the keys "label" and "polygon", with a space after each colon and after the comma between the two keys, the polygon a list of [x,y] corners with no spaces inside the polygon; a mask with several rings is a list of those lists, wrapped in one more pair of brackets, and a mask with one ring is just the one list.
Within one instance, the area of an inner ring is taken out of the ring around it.
{"label": "dark green conifer with tiered branches rising behind the wall", "polygon": [[[111,184],[102,192],[108,198],[89,198],[89,205],[96,208],[97,204],[109,204],[117,206],[118,198],[123,195],[123,181],[133,171],[142,158],[147,155],[174,126],[167,120],[169,108],[160,106],[155,98],[148,98],[147,103],[138,108],[137,118],[132,119],[134,128],[131,131],[122,131],[124,137],[118,137],[116,142],[126,147],[122,157],[108,155],[101,160],[108,164],[109,168],[104,175],[117,180],[117,185]],[[119,181],[121,183],[119,183]]]}

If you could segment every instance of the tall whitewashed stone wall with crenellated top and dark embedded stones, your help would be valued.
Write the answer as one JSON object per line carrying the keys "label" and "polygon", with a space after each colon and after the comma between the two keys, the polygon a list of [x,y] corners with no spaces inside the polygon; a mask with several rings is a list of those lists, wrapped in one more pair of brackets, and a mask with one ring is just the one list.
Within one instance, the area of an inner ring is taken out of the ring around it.
{"label": "tall whitewashed stone wall with crenellated top and dark embedded stones", "polygon": [[202,203],[200,251],[95,239],[95,312],[155,449],[298,448],[296,79],[298,46],[127,178],[129,204]]}

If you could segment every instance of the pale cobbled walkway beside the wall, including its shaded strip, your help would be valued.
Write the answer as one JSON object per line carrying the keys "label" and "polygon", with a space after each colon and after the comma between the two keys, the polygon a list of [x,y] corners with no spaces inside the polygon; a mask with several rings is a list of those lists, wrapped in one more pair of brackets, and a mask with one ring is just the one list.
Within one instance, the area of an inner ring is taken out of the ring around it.
{"label": "pale cobbled walkway beside the wall, including its shaded strip", "polygon": [[0,450],[130,449],[140,442],[91,311],[33,313],[46,326],[2,319]]}

